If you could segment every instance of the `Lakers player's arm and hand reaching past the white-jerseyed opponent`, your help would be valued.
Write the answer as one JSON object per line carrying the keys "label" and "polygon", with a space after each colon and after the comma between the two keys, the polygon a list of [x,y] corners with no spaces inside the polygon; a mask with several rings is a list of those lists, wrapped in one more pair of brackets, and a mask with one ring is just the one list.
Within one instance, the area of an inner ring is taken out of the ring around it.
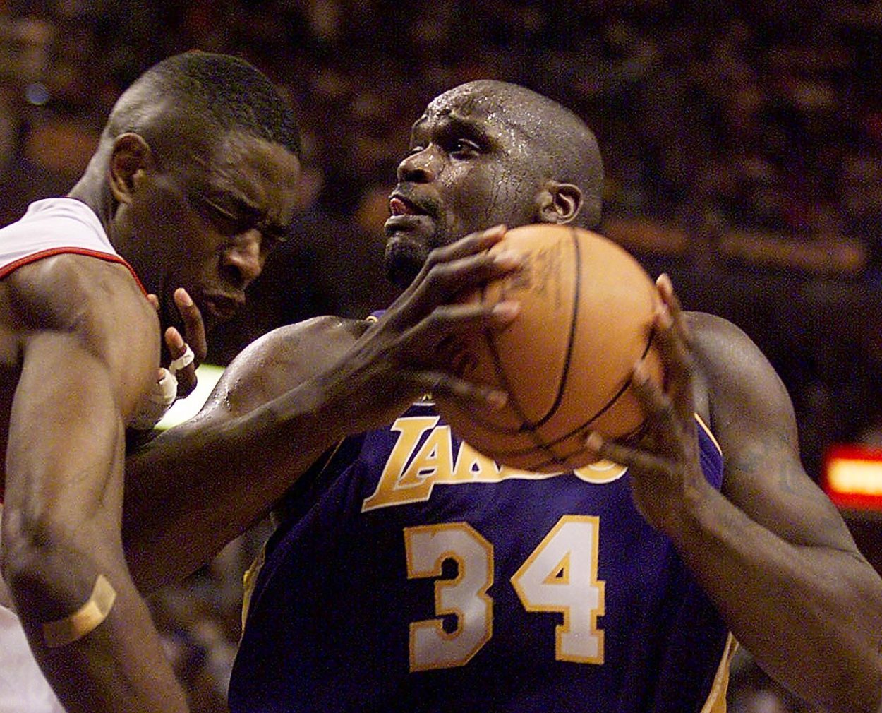
{"label": "Lakers player's arm and hand reaching past the white-jerseyed opponent", "polygon": [[517,313],[457,299],[517,266],[486,253],[503,234],[490,229],[433,251],[374,325],[320,318],[266,335],[230,364],[197,417],[130,457],[123,539],[138,585],[190,574],[329,447],[390,423],[420,394],[498,402],[446,372],[437,345],[457,331],[505,326]]}

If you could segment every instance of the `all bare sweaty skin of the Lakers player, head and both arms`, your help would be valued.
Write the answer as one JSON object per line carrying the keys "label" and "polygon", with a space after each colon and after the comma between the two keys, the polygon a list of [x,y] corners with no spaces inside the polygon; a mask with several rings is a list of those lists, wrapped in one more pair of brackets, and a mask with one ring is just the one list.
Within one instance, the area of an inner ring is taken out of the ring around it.
{"label": "all bare sweaty skin of the Lakers player, head and both arms", "polygon": [[[196,419],[131,462],[154,473],[176,463],[165,485],[151,485],[170,520],[151,516],[146,480],[126,493],[126,537],[143,555],[135,556],[146,584],[210,557],[340,438],[390,423],[421,387],[451,385],[445,364],[432,361],[438,337],[453,328],[447,320],[463,309],[443,306],[462,265],[450,251],[480,262],[475,245],[456,236],[496,222],[596,227],[596,146],[555,107],[488,81],[430,103],[400,163],[386,224],[389,274],[401,287],[415,282],[376,325],[327,317],[267,334],[230,364]],[[595,155],[591,165],[577,161]],[[456,284],[469,282],[457,276]],[[766,672],[825,709],[873,713],[882,694],[882,581],[805,474],[781,380],[736,326],[681,311],[666,278],[659,289],[669,378],[659,391],[636,365],[632,383],[647,409],[647,438],[638,447],[589,445],[629,467],[640,512],[670,537]],[[721,492],[702,477],[694,413],[720,443]],[[212,498],[222,516],[194,505]],[[187,552],[166,557],[164,573],[151,568],[180,531]]]}

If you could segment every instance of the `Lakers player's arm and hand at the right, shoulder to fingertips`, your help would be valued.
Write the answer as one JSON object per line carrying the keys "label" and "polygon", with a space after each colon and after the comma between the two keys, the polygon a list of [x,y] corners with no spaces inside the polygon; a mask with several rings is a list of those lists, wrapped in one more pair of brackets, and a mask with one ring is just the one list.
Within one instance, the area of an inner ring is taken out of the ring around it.
{"label": "Lakers player's arm and hand at the right, shoulder to fingertips", "polygon": [[[658,285],[666,385],[640,368],[632,380],[647,435],[637,447],[589,445],[629,466],[635,504],[766,672],[825,710],[874,713],[882,580],[805,474],[781,379],[736,326],[682,312],[670,281]],[[695,412],[722,449],[721,492],[701,471]]]}

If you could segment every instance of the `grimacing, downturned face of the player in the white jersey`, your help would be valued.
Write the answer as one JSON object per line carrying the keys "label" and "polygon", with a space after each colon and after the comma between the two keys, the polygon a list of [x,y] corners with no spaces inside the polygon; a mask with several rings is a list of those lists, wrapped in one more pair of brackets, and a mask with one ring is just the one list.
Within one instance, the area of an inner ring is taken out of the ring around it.
{"label": "grimacing, downturned face of the player in the white jersey", "polygon": [[172,295],[183,287],[211,328],[244,304],[245,288],[288,235],[300,164],[284,146],[240,132],[173,163],[135,191],[136,269],[146,263],[163,326],[180,326]]}

